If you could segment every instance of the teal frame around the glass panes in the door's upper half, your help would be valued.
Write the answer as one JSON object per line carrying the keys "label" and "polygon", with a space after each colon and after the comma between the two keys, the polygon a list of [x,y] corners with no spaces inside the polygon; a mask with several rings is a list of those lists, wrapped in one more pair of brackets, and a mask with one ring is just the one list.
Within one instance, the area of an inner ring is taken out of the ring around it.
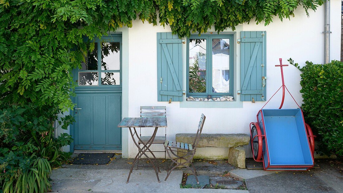
{"label": "teal frame around the glass panes in the door's upper half", "polygon": [[[88,41],[88,38],[85,38],[84,41]],[[76,74],[76,79],[77,79],[77,87],[79,88],[89,88],[89,87],[95,87],[95,88],[117,88],[117,89],[121,89],[122,88],[122,39],[121,39],[121,35],[117,35],[117,34],[111,34],[109,36],[103,36],[101,39],[99,38],[94,38],[94,40],[89,41],[90,43],[94,42],[97,43],[97,47],[95,47],[94,49],[97,49],[97,70],[81,70],[81,69],[77,69],[77,74]],[[119,70],[103,70],[101,68],[101,46],[103,42],[119,42],[119,50],[120,50],[120,66],[119,66]],[[97,72],[98,73],[98,84],[97,85],[80,85],[80,80],[79,80],[79,73],[80,72]],[[101,73],[102,72],[119,72],[119,83],[120,84],[102,84],[101,80],[102,80],[102,76]]]}

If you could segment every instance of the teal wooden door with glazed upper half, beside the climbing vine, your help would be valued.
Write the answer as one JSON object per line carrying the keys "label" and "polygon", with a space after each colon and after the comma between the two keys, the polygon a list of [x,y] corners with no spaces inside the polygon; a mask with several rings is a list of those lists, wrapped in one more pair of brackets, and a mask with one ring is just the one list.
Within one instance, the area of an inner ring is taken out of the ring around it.
{"label": "teal wooden door with glazed upper half, beside the climbing vine", "polygon": [[121,150],[121,36],[89,42],[81,69],[73,71],[76,96],[72,150]]}

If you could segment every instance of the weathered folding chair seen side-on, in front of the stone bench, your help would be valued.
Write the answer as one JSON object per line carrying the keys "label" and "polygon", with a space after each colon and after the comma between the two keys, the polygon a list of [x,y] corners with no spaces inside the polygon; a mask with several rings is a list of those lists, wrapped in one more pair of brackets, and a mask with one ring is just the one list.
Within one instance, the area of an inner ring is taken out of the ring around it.
{"label": "weathered folding chair seen side-on, in front of the stone bench", "polygon": [[[166,151],[167,151],[167,154],[168,154],[169,158],[173,162],[170,164],[170,166],[169,166],[169,168],[167,170],[167,177],[164,180],[167,180],[167,178],[169,177],[169,174],[175,168],[177,168],[178,166],[185,166],[186,168],[188,168],[188,169],[190,169],[192,171],[192,173],[194,174],[195,179],[197,180],[197,183],[199,184],[198,177],[197,177],[197,170],[193,166],[192,159],[194,157],[195,151],[197,149],[197,146],[198,146],[198,143],[199,143],[199,140],[200,140],[200,135],[201,135],[202,127],[204,126],[205,119],[206,119],[205,115],[201,114],[199,125],[198,125],[197,135],[195,136],[193,145],[187,144],[187,143],[175,142],[175,141],[167,141],[167,140],[165,141],[164,147],[166,148]],[[177,155],[177,150],[178,149],[186,150],[186,152],[185,152],[186,155],[178,156]],[[170,155],[169,152],[171,152],[171,154],[176,156],[176,159],[171,158],[171,155]],[[180,160],[180,163],[177,162],[178,160]],[[185,162],[182,162],[182,160],[185,160]],[[171,168],[171,166],[173,166],[174,163],[176,163],[176,166]],[[190,163],[190,165],[192,166],[193,169],[190,168],[189,166],[187,166],[187,163]]]}

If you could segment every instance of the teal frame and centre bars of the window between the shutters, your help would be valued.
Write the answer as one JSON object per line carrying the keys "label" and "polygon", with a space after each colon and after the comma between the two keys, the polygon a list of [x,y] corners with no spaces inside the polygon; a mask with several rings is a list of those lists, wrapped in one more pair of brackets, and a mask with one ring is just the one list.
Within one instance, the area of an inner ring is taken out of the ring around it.
{"label": "teal frame and centre bars of the window between the shutters", "polygon": [[[212,92],[212,39],[229,39],[229,92],[227,93],[217,93]],[[206,39],[206,92],[204,93],[194,93],[189,92],[189,39]],[[187,48],[186,48],[186,96],[207,98],[207,95],[213,97],[218,97],[222,95],[233,96],[234,93],[234,35],[233,34],[206,34],[206,35],[191,35],[187,38]],[[232,47],[231,47],[232,46]],[[209,73],[210,72],[210,73]]]}

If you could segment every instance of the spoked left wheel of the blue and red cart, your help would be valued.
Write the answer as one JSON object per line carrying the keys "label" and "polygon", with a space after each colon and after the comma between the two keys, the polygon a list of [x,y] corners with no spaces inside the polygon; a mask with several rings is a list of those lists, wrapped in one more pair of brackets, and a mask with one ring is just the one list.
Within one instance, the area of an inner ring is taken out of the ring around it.
{"label": "spoked left wheel of the blue and red cart", "polygon": [[254,159],[260,161],[262,158],[262,136],[255,137],[256,135],[262,135],[261,129],[259,125],[253,124],[250,135],[251,150]]}

